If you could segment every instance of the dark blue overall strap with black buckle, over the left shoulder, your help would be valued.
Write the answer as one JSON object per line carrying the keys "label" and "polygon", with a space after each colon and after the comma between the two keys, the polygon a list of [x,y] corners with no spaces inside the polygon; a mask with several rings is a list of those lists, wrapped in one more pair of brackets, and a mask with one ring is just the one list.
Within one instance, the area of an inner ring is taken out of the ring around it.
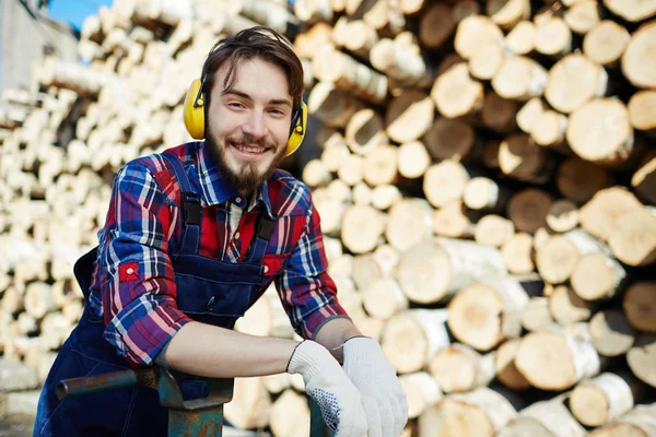
{"label": "dark blue overall strap with black buckle, over the left shoulder", "polygon": [[200,222],[202,218],[202,205],[200,194],[194,191],[187,172],[180,160],[171,152],[163,152],[162,157],[171,165],[175,179],[180,187],[183,212],[183,238],[180,243],[181,253],[198,253],[200,247]]}

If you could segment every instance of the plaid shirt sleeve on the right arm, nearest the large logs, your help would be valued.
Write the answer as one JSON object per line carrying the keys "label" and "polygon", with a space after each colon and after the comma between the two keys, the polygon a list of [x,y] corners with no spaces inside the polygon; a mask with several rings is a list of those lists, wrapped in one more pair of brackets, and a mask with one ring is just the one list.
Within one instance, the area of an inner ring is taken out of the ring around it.
{"label": "plaid shirt sleeve on the right arm, nearest the large logs", "polygon": [[347,311],[339,305],[337,286],[326,271],[327,267],[320,218],[312,205],[286,269],[276,280],[292,327],[304,339],[314,339],[328,320],[348,318]]}

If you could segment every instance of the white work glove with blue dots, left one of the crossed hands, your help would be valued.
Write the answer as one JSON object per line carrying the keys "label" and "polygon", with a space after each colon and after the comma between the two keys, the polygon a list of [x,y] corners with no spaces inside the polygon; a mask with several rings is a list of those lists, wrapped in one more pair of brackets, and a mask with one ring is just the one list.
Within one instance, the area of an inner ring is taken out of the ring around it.
{"label": "white work glove with blue dots, left one of the crossed hands", "polygon": [[305,340],[294,350],[289,374],[301,374],[305,391],[321,409],[326,425],[336,437],[364,437],[366,418],[360,393],[330,352],[319,343]]}

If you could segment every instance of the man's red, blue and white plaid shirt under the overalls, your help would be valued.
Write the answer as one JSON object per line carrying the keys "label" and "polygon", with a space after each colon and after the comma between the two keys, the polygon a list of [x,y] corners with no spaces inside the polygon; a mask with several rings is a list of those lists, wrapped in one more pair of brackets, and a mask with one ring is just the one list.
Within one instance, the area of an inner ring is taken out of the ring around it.
{"label": "man's red, blue and white plaid shirt under the overalls", "polygon": [[[200,253],[242,261],[260,203],[277,218],[262,261],[263,282],[250,304],[274,281],[292,327],[306,339],[327,320],[347,317],[326,272],[319,216],[307,187],[277,170],[248,204],[219,173],[203,143],[190,144],[171,151],[202,193]],[[179,240],[181,234],[179,191],[160,155],[134,160],[116,175],[106,224],[98,232],[90,307],[94,316],[104,317],[105,339],[132,365],[150,365],[175,332],[191,321],[177,309],[176,296],[192,291],[176,288],[168,256],[168,241]]]}

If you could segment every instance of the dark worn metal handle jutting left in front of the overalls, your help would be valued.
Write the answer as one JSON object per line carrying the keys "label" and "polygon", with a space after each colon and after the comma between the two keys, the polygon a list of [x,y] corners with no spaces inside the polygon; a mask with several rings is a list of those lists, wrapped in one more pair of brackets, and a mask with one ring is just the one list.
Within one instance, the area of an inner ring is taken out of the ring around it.
{"label": "dark worn metal handle jutting left in front of the overalls", "polygon": [[71,378],[59,381],[55,392],[60,401],[68,398],[97,393],[104,390],[132,387],[137,383],[151,386],[155,375],[152,368],[118,370],[91,377]]}

